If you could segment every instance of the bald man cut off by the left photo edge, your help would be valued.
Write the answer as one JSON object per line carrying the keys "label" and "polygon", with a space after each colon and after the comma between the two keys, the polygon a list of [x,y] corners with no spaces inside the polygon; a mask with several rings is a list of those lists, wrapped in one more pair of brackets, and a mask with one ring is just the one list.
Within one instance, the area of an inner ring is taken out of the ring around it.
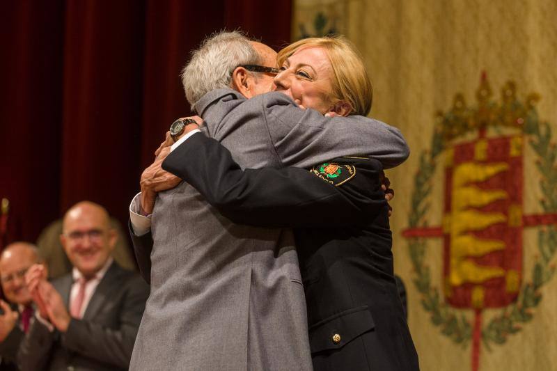
{"label": "bald man cut off by the left photo edge", "polygon": [[19,345],[33,315],[33,301],[24,275],[38,262],[37,248],[27,242],[14,242],[0,255],[0,282],[9,301],[9,304],[0,301],[0,370],[17,370]]}

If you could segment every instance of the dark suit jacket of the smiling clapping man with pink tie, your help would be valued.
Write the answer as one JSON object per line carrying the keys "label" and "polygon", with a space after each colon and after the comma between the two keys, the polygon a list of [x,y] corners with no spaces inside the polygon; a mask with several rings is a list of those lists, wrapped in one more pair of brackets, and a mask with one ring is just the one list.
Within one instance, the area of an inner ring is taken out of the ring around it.
{"label": "dark suit jacket of the smiling clapping man with pink tie", "polygon": [[[53,281],[69,302],[72,275]],[[82,319],[73,319],[68,331],[50,332],[38,320],[31,324],[19,352],[22,370],[127,370],[149,296],[138,274],[116,262],[104,274]],[[68,305],[69,307],[69,305]]]}

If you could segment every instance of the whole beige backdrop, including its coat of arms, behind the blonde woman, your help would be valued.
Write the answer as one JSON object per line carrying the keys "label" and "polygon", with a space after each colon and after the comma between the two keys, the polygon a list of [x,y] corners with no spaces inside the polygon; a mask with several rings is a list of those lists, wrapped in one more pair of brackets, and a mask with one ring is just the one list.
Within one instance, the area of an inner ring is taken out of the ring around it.
{"label": "whole beige backdrop, including its coat of arms, behind the blonde woman", "polygon": [[388,175],[395,271],[422,370],[557,370],[557,3],[295,1],[294,39],[340,32],[371,116],[411,157]]}

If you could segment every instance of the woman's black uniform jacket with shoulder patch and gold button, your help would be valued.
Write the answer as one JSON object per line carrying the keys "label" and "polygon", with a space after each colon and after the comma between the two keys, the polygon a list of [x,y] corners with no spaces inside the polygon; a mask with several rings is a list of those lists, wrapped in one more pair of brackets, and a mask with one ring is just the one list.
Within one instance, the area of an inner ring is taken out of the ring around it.
{"label": "woman's black uniform jacket with shoulder patch and gold button", "polygon": [[337,178],[325,166],[242,171],[203,135],[177,150],[182,161],[167,159],[164,168],[228,219],[297,228],[315,370],[418,370],[393,274],[379,161],[333,159],[345,171]]}

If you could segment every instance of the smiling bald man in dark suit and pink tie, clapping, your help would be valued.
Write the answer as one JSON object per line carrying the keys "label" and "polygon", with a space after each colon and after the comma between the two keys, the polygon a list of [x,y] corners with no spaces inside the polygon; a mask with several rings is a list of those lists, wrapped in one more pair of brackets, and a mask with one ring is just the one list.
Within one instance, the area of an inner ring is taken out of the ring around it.
{"label": "smiling bald man in dark suit and pink tie, clapping", "polygon": [[22,342],[22,370],[127,370],[148,297],[138,274],[111,258],[116,233],[100,205],[74,205],[60,237],[72,273],[52,283],[44,268],[26,274],[38,307]]}

